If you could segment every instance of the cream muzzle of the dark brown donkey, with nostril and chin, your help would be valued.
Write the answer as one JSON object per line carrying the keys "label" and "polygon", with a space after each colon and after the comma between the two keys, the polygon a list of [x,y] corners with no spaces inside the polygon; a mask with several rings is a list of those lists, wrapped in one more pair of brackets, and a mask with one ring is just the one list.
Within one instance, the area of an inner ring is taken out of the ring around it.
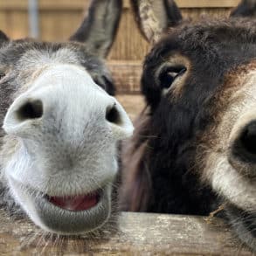
{"label": "cream muzzle of the dark brown donkey, with nostril and chin", "polygon": [[[241,78],[241,77],[240,77]],[[225,203],[225,215],[246,245],[256,248],[256,73],[241,78],[216,131],[216,146],[206,159],[204,177]],[[243,85],[243,86],[242,86]],[[247,94],[249,93],[249,94]],[[236,100],[235,100],[236,99]]]}

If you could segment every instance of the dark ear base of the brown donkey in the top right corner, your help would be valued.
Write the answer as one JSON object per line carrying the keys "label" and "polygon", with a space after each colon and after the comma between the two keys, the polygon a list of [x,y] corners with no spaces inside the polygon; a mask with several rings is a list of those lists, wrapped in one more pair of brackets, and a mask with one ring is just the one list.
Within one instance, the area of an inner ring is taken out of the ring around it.
{"label": "dark ear base of the brown donkey in the top right corner", "polygon": [[232,10],[231,17],[256,17],[256,0],[243,0]]}

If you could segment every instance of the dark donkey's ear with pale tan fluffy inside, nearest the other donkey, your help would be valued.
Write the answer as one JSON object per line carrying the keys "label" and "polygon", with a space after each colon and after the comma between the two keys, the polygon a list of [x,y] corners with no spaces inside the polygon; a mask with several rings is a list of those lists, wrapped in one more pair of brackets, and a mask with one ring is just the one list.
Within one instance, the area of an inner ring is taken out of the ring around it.
{"label": "dark donkey's ear with pale tan fluffy inside, nearest the other donkey", "polygon": [[143,36],[154,43],[170,26],[175,26],[182,15],[173,0],[131,0],[135,19]]}

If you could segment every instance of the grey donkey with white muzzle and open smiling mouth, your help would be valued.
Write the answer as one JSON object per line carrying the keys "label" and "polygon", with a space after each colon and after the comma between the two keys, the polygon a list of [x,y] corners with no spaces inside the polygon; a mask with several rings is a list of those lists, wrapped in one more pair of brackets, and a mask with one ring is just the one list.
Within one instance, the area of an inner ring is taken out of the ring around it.
{"label": "grey donkey with white muzzle and open smiling mouth", "polygon": [[133,132],[103,62],[120,17],[120,0],[94,0],[67,42],[0,34],[0,205],[45,231],[100,231],[114,214],[117,143]]}

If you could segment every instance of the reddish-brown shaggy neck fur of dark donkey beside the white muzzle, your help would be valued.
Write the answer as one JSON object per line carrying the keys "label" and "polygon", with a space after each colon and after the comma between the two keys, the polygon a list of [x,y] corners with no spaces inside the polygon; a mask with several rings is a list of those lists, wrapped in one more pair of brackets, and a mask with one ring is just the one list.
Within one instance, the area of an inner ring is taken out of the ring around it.
{"label": "reddish-brown shaggy neck fur of dark donkey beside the white muzzle", "polygon": [[[142,158],[142,156],[147,155],[149,150],[148,127],[149,117],[147,109],[144,109],[135,121],[133,140],[122,143],[122,149],[124,149],[121,154],[123,165],[122,174],[127,185],[121,186],[121,209],[128,208],[130,211],[137,211],[138,209],[139,211],[146,211],[147,204],[149,204],[151,177],[147,171],[147,162]],[[132,156],[132,162],[126,156]]]}

